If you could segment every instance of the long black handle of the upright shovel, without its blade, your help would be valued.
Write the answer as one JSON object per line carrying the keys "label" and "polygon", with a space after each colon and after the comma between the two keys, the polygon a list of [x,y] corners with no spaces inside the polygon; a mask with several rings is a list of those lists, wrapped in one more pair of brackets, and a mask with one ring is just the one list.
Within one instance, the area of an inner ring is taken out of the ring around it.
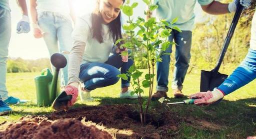
{"label": "long black handle of the upright shovel, without its blade", "polygon": [[238,4],[238,6],[236,8],[236,11],[235,11],[235,14],[234,14],[234,17],[233,17],[233,20],[232,20],[232,23],[231,23],[231,25],[229,27],[229,30],[227,32],[224,44],[222,46],[222,49],[221,49],[221,52],[220,52],[217,64],[216,64],[215,68],[212,70],[213,72],[217,72],[219,70],[221,62],[222,62],[222,60],[224,58],[224,55],[226,53],[227,47],[228,47],[228,45],[230,43],[230,40],[232,38],[232,35],[234,33],[236,24],[237,24],[237,22],[238,22],[238,20],[240,18],[241,13],[242,13],[242,9],[243,9],[243,6],[241,4]]}

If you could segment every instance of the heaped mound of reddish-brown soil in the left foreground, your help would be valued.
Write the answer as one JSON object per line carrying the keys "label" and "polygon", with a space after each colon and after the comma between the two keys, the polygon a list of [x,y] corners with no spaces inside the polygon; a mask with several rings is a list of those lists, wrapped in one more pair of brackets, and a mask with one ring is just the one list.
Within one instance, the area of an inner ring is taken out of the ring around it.
{"label": "heaped mound of reddish-brown soil in the left foreground", "polygon": [[46,117],[24,118],[0,132],[0,139],[112,139],[112,136],[75,119],[51,121]]}

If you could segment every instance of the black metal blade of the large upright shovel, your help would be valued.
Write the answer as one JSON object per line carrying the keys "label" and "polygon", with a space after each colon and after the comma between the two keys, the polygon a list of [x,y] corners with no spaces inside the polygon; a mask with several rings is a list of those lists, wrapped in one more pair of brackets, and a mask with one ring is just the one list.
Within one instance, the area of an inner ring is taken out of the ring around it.
{"label": "black metal blade of the large upright shovel", "polygon": [[227,76],[219,72],[201,70],[200,92],[212,91],[224,82]]}

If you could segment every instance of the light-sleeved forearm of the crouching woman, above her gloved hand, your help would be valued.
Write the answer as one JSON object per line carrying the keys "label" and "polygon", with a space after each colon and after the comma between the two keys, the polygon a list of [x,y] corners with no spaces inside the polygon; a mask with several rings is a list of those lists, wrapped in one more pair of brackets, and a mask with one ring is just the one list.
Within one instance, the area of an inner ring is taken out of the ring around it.
{"label": "light-sleeved forearm of the crouching woman, above her gloved hand", "polygon": [[73,42],[68,61],[68,84],[79,83],[80,64],[84,49],[84,42],[77,40]]}

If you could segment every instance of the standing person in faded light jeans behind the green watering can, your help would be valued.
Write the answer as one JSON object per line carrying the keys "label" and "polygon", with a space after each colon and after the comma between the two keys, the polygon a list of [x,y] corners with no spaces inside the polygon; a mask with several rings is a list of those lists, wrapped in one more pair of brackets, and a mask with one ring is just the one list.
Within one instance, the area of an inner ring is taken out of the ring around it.
{"label": "standing person in faded light jeans behind the green watering can", "polygon": [[[30,0],[34,37],[43,37],[49,55],[62,53],[67,61],[72,47],[72,19],[70,0]],[[61,87],[67,85],[67,67],[60,70]],[[51,67],[54,71],[54,67]]]}

